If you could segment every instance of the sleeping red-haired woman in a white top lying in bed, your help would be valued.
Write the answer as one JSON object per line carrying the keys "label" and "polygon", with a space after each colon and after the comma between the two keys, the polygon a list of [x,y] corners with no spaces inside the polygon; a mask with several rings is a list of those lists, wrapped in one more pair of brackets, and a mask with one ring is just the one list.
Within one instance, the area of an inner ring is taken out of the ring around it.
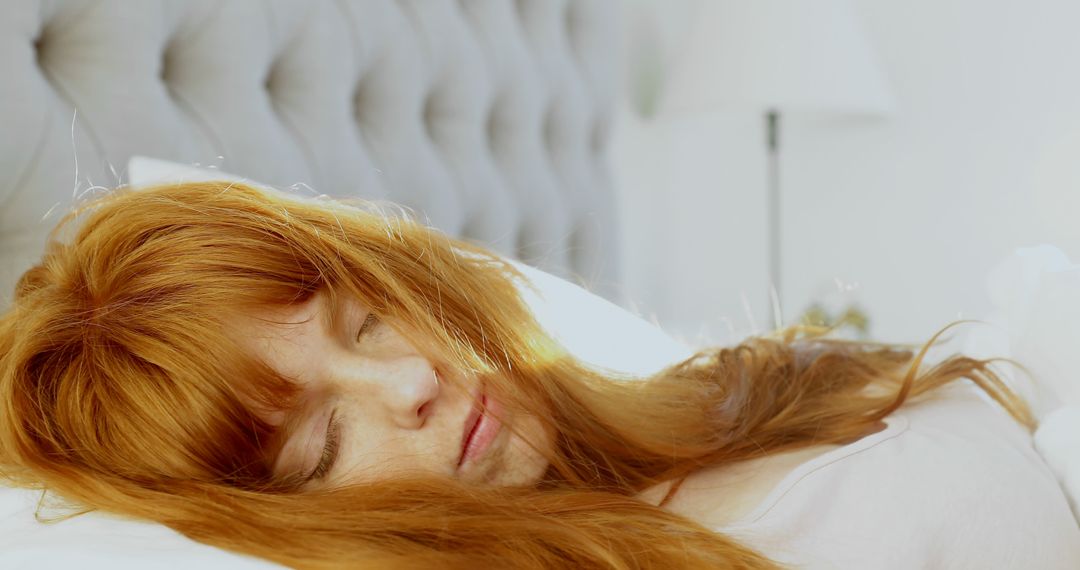
{"label": "sleeping red-haired woman in a white top lying in bed", "polygon": [[[910,410],[930,424],[968,406],[982,423],[960,432],[1013,438],[976,442],[1021,465],[1002,480],[974,470],[976,492],[1042,476],[1015,444],[1030,415],[987,362],[920,370],[924,350],[789,335],[626,381],[544,334],[513,266],[406,219],[224,182],[118,190],[60,227],[80,217],[0,321],[14,484],[301,568],[774,568],[839,549],[851,567],[927,567],[1002,547],[1020,566],[1080,561],[1059,489],[991,501],[981,514],[1002,521],[982,542],[945,542],[976,522],[946,497],[934,520],[879,513],[883,535],[807,543],[852,501],[909,490],[798,470],[859,465],[849,451],[903,439],[894,420]],[[939,390],[962,378],[1012,419],[955,390],[974,389]],[[903,457],[926,467],[917,446]],[[799,498],[801,479],[828,497]],[[755,506],[788,508],[789,526],[740,526],[768,518]],[[1031,524],[1039,538],[1011,534]]]}

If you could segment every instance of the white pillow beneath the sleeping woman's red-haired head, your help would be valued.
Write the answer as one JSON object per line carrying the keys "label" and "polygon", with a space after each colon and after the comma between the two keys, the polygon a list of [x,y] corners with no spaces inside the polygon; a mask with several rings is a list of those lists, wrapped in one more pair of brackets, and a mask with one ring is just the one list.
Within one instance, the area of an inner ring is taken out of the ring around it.
{"label": "white pillow beneath the sleeping woman's red-haired head", "polygon": [[[269,188],[219,171],[144,157],[127,166],[129,184],[234,180]],[[592,366],[647,376],[689,357],[691,350],[606,299],[526,263],[511,260],[537,286],[522,295],[540,325]],[[90,513],[53,525],[33,518],[39,493],[0,487],[0,568],[281,568],[194,542],[154,522]]]}

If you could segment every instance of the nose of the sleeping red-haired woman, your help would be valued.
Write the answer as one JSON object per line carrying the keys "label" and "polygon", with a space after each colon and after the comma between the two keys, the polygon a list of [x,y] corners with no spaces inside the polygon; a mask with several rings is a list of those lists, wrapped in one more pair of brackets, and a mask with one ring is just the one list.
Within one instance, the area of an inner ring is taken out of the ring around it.
{"label": "nose of the sleeping red-haired woman", "polygon": [[407,430],[421,428],[440,394],[435,369],[420,356],[384,362],[378,368],[373,370],[373,380],[392,421]]}

